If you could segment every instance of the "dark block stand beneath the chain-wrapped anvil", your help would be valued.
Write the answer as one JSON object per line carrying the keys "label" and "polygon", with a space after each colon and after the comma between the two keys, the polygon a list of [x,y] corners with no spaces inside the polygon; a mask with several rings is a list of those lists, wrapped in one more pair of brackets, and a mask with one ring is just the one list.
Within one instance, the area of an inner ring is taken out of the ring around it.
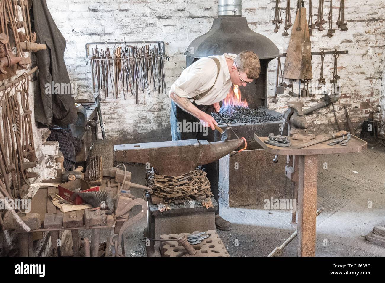
{"label": "dark block stand beneath the chain-wrapped anvil", "polygon": [[[214,208],[202,206],[201,201],[186,201],[184,204],[169,204],[170,210],[160,212],[157,204],[153,204],[147,193],[147,228],[144,236],[159,239],[161,235],[193,233],[194,231],[215,230],[215,210],[218,203],[213,197]],[[161,256],[159,242],[146,245],[147,256]]]}

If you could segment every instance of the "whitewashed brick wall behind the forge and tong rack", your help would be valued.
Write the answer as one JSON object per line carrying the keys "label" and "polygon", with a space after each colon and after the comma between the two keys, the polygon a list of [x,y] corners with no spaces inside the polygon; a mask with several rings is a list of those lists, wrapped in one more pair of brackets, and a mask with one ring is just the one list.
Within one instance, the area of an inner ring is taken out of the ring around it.
{"label": "whitewashed brick wall behind the forge and tong rack", "polygon": [[[295,17],[295,1],[292,1],[292,22]],[[338,17],[339,1],[333,1],[333,22]],[[207,32],[213,18],[218,14],[218,1],[199,0],[47,0],[57,26],[67,39],[65,62],[70,78],[78,86],[77,98],[92,100],[89,65],[85,64],[86,42],[123,39],[127,41],[164,40],[166,54],[170,56],[166,62],[167,90],[185,67],[187,46],[199,35]],[[328,17],[330,1],[325,0],[325,19]],[[358,123],[368,115],[368,111],[376,111],[377,116],[384,114],[384,90],[381,88],[383,77],[384,44],[385,44],[385,0],[350,0],[346,1],[345,19],[349,30],[337,30],[331,39],[326,31],[313,31],[311,36],[312,51],[349,50],[348,55],[340,55],[338,74],[343,85],[343,93],[336,104],[337,117],[345,121],[343,106],[353,122]],[[316,19],[318,1],[313,1],[313,19]],[[308,1],[305,1],[305,7]],[[274,33],[271,20],[274,17],[275,1],[244,0],[243,17],[248,19],[249,26],[273,40],[281,52],[286,52],[289,37],[283,37],[283,24],[278,33]],[[286,1],[281,3],[282,16],[285,17]],[[334,24],[335,26],[335,24]],[[290,30],[289,30],[290,32]],[[284,62],[282,62],[283,64]],[[320,56],[313,57],[313,78],[315,82],[320,74]],[[296,100],[289,96],[288,89],[280,95],[280,102],[272,103],[275,86],[276,60],[269,64],[268,74],[268,106],[283,112],[286,102]],[[325,57],[324,77],[328,82],[333,74],[333,57]],[[297,86],[298,87],[298,86]],[[305,107],[314,105],[321,98],[303,98]],[[160,140],[169,138],[169,105],[166,94],[153,94],[148,97],[142,94],[139,105],[129,95],[127,100],[102,101],[102,114],[107,137],[116,139],[142,138]],[[308,116],[313,129],[332,131],[334,117],[331,107],[321,109]]]}

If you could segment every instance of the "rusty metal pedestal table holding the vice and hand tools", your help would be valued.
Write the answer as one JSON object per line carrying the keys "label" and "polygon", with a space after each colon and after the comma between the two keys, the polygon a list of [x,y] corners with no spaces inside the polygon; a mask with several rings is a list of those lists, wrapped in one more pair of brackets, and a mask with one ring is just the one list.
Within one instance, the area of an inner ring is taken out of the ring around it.
{"label": "rusty metal pedestal table holding the vice and hand tools", "polygon": [[[292,149],[304,142],[291,139],[291,146],[278,147],[266,144],[264,141],[269,139],[268,137],[258,137],[254,134],[254,139],[268,153],[298,158],[297,255],[315,256],[318,155],[361,152],[367,148],[367,142],[352,136],[346,146],[340,144],[328,146],[327,143],[330,141],[325,141],[301,149]],[[321,139],[321,137],[316,137],[316,139]]]}

